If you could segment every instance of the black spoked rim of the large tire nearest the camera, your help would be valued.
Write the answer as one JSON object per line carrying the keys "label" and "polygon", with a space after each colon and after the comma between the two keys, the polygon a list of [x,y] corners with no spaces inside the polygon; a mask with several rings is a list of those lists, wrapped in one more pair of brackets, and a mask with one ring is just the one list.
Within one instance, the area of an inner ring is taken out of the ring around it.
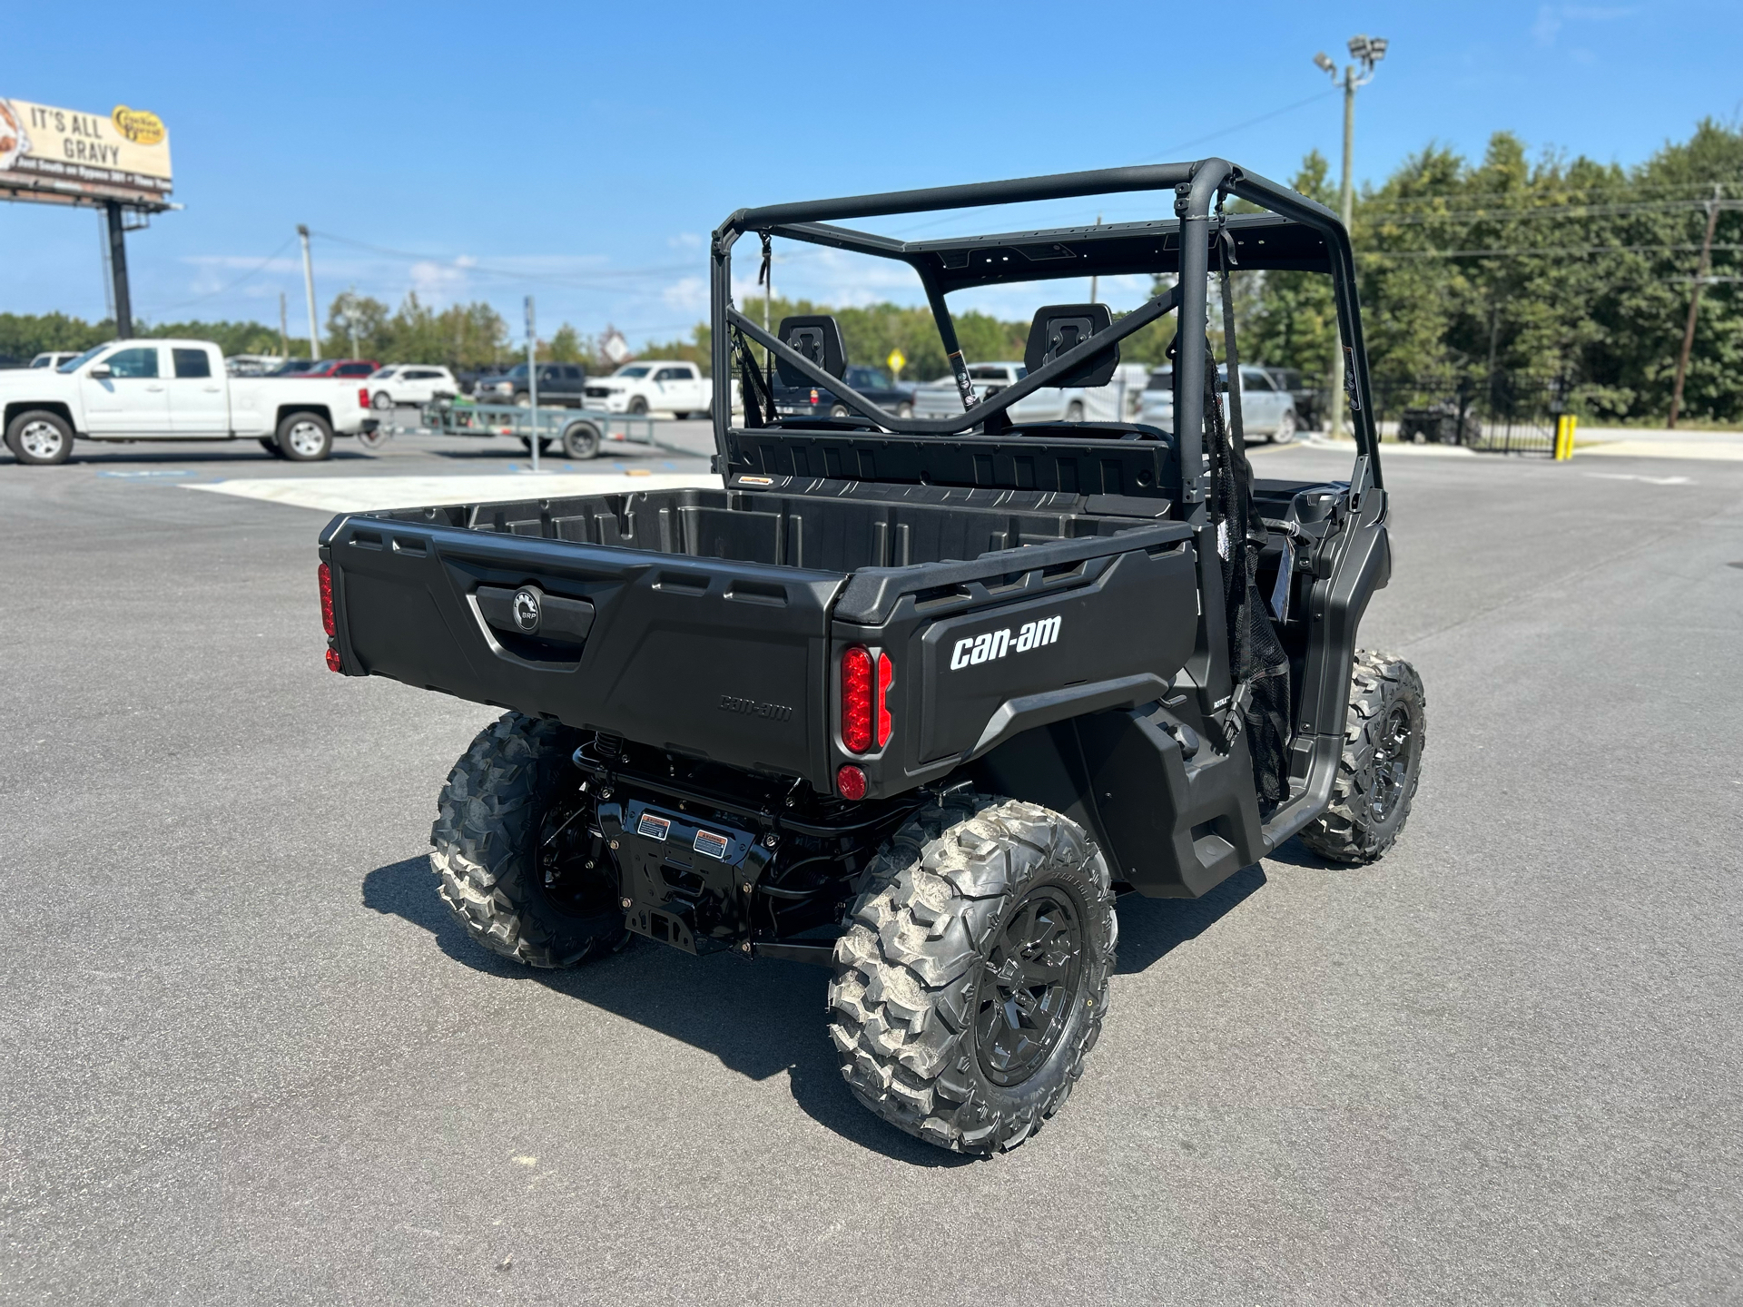
{"label": "black spoked rim of the large tire nearest the camera", "polygon": [[981,965],[976,1047],[1000,1086],[1041,1070],[1070,1019],[1082,974],[1082,913],[1058,885],[1025,894]]}

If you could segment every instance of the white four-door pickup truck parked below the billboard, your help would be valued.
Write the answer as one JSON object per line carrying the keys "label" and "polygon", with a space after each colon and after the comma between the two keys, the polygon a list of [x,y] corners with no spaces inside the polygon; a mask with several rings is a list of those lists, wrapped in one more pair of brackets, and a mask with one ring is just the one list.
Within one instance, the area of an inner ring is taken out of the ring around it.
{"label": "white four-door pickup truck parked below the billboard", "polygon": [[256,439],[310,462],[335,436],[371,437],[370,390],[356,382],[230,376],[204,340],[112,340],[58,368],[0,371],[0,427],[21,464],[64,464],[91,441]]}

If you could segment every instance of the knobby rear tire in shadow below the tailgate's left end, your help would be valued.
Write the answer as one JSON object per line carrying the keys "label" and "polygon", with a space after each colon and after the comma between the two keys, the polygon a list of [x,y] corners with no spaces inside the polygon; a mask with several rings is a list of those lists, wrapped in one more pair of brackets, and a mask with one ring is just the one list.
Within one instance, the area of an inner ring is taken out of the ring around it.
{"label": "knobby rear tire in shadow below the tailgate's left end", "polygon": [[568,807],[580,798],[579,741],[556,721],[504,714],[453,765],[431,828],[448,911],[492,953],[530,967],[573,967],[629,939],[610,859],[589,852],[587,819]]}

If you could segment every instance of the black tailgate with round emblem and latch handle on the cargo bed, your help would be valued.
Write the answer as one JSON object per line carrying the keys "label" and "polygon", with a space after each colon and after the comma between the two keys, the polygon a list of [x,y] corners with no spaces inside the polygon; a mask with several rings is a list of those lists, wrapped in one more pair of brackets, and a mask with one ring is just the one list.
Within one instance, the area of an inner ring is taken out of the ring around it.
{"label": "black tailgate with round emblem and latch handle on the cargo bed", "polygon": [[321,558],[347,674],[831,784],[838,573],[350,516]]}

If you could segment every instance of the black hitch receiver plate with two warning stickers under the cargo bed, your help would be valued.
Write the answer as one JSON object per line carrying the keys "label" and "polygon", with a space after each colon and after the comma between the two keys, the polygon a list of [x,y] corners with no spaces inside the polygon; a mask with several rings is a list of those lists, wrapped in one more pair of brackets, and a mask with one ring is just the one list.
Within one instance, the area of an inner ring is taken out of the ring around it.
{"label": "black hitch receiver plate with two warning stickers under the cargo bed", "polygon": [[739,891],[772,856],[755,835],[640,798],[600,803],[600,830],[617,857],[626,927],[685,953],[748,936]]}

